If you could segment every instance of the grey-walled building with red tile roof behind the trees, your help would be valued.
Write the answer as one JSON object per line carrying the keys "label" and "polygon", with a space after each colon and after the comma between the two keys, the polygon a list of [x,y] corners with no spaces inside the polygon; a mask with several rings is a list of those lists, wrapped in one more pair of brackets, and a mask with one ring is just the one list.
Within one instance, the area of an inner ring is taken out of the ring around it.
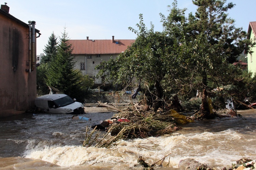
{"label": "grey-walled building with red tile roof behind the trees", "polygon": [[[116,58],[134,43],[135,39],[112,39],[97,40],[69,40],[73,47],[72,55],[76,62],[75,69],[79,69],[83,74],[88,74],[91,78],[95,77],[99,70],[95,66],[102,61],[109,61],[111,57]],[[95,80],[95,87],[104,83],[104,77]]]}

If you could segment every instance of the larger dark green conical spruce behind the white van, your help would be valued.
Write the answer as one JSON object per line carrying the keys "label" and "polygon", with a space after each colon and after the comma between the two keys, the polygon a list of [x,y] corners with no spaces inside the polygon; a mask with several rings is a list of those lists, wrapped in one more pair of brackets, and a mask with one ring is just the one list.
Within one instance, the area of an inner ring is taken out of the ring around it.
{"label": "larger dark green conical spruce behind the white van", "polygon": [[50,58],[46,83],[48,86],[59,89],[71,98],[83,102],[86,91],[81,84],[84,80],[81,79],[80,71],[74,70],[74,57],[71,56],[73,49],[68,40],[68,33],[66,28],[64,28],[56,55]]}

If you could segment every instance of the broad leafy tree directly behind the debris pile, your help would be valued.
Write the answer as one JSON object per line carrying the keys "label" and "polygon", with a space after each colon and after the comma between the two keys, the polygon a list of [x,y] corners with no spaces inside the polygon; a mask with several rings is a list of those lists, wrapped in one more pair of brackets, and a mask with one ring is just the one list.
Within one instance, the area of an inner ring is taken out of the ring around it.
{"label": "broad leafy tree directly behind the debris pile", "polygon": [[[177,13],[180,15],[183,11]],[[137,27],[138,30],[129,28],[138,35],[132,46],[115,60],[103,62],[96,68],[103,68],[98,76],[105,74],[105,77],[109,76],[114,83],[125,87],[134,87],[134,83],[141,83],[149,104],[156,111],[164,106],[163,101],[170,97],[168,94],[177,92],[175,81],[181,80],[185,75],[176,63],[179,41],[175,36],[169,36],[172,34],[166,34],[167,32],[154,32],[153,24],[148,30],[143,23],[142,14]]]}

